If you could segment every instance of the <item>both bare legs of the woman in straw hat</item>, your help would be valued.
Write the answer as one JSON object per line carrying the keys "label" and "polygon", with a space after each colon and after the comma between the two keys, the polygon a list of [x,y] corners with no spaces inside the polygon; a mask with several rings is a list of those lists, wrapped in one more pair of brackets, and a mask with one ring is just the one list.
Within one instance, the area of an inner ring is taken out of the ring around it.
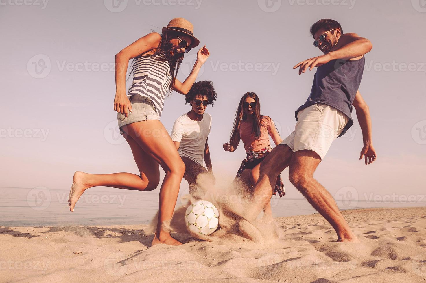
{"label": "both bare legs of the woman in straw hat", "polygon": [[129,135],[126,140],[132,148],[135,160],[137,159],[136,163],[138,163],[139,169],[142,169],[141,176],[131,173],[85,175],[86,173],[76,172],[76,182],[73,182],[69,198],[70,209],[74,210],[78,198],[91,185],[121,189],[155,189],[158,184],[159,164],[164,169],[166,176],[160,189],[158,225],[153,245],[158,243],[181,245],[170,235],[170,231],[163,224],[165,223],[167,226],[167,221],[172,218],[185,165],[170,135],[159,120],[131,123],[124,129]]}

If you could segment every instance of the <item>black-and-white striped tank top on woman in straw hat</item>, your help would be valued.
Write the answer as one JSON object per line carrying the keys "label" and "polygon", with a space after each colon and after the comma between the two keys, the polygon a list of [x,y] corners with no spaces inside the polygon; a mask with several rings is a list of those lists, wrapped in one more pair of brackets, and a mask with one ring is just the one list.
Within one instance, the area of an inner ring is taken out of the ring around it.
{"label": "black-and-white striped tank top on woman in straw hat", "polygon": [[162,61],[153,55],[138,57],[134,62],[133,82],[128,96],[138,94],[150,98],[158,116],[161,116],[171,81],[167,60]]}

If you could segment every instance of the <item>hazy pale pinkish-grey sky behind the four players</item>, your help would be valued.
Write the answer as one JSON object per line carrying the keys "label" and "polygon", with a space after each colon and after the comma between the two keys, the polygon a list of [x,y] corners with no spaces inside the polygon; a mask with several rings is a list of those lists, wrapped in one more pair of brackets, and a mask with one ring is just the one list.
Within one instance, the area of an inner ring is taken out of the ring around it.
{"label": "hazy pale pinkish-grey sky behind the four players", "polygon": [[[218,94],[206,110],[213,172],[236,174],[245,158],[242,144],[236,152],[222,148],[245,92],[259,95],[261,113],[282,138],[294,129],[294,111],[307,99],[315,70],[299,75],[292,67],[321,54],[309,27],[331,18],[373,44],[360,92],[378,158],[370,166],[358,160],[363,142],[353,113],[354,126],[334,141],[315,177],[334,196],[424,196],[424,0],[0,0],[0,186],[69,189],[77,170],[138,173],[113,111],[114,56],[175,17],[190,20],[200,47],[210,51],[197,81],[213,81]],[[185,55],[179,80],[197,50]],[[173,92],[161,122],[170,132],[189,110]],[[283,174],[288,197],[301,197]]]}

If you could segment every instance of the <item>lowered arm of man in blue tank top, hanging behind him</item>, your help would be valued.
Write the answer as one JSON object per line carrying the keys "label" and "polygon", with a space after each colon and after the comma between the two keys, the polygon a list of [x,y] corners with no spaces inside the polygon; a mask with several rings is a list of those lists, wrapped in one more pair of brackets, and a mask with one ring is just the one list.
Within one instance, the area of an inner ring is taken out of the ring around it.
{"label": "lowered arm of man in blue tank top, hanging behind him", "polygon": [[374,160],[376,160],[377,154],[373,147],[370,110],[368,109],[367,103],[361,96],[360,91],[357,91],[352,105],[354,106],[355,111],[357,112],[358,122],[360,123],[361,130],[363,131],[364,146],[361,150],[360,160],[364,156],[366,165],[371,164]]}

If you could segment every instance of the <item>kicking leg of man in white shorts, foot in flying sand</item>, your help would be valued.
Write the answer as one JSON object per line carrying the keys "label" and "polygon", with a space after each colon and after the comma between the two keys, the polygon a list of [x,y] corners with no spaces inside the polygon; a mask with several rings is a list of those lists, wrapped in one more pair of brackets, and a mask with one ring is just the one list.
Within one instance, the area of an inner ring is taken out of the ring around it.
{"label": "kicking leg of man in white shorts, foot in flying sand", "polygon": [[259,179],[254,187],[253,194],[254,205],[246,214],[248,219],[256,219],[262,209],[270,203],[276,177],[290,165],[292,154],[293,152],[288,145],[279,144],[259,164]]}

